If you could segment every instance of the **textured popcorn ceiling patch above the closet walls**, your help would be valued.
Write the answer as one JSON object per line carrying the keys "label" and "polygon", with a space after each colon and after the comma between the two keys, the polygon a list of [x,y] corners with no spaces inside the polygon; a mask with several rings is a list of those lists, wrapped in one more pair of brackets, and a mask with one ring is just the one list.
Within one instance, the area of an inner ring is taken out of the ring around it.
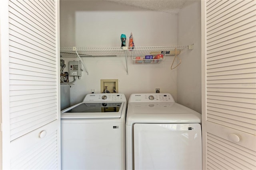
{"label": "textured popcorn ceiling patch above the closet walls", "polygon": [[138,8],[177,14],[179,10],[196,0],[109,0]]}

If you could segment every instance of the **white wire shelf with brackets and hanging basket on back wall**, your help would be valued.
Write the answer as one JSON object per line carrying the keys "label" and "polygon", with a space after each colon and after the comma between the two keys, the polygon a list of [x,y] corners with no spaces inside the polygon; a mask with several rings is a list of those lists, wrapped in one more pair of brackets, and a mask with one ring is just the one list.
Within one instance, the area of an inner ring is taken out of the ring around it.
{"label": "white wire shelf with brackets and hanging basket on back wall", "polygon": [[[193,49],[193,45],[151,46],[151,47],[61,47],[60,57],[78,57],[87,74],[89,74],[81,57],[125,57],[126,74],[128,74],[127,57],[132,57],[134,64],[158,64],[167,55],[178,55],[183,49]],[[146,55],[152,57],[146,59]],[[162,55],[156,58],[156,55]],[[139,58],[137,58],[139,57]]]}

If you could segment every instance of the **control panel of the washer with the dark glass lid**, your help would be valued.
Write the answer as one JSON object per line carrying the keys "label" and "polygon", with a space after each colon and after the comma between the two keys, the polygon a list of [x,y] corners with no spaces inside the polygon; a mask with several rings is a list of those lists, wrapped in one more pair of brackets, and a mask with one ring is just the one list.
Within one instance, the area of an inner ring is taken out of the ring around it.
{"label": "control panel of the washer with the dark glass lid", "polygon": [[83,102],[126,102],[126,98],[120,93],[87,94]]}

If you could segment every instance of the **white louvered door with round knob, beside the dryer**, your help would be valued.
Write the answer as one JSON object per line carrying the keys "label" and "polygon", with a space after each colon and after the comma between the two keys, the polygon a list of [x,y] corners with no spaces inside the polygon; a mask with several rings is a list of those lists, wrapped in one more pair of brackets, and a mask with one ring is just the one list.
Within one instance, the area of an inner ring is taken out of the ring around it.
{"label": "white louvered door with round knob, beside the dryer", "polygon": [[256,1],[202,1],[203,169],[256,169]]}

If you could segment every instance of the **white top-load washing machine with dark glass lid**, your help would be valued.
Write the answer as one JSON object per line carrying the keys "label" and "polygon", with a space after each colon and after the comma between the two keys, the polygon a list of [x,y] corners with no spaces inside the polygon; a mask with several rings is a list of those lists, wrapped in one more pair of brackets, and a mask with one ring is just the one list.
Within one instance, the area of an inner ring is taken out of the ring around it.
{"label": "white top-load washing machine with dark glass lid", "polygon": [[61,111],[61,168],[124,170],[124,94],[88,94]]}

